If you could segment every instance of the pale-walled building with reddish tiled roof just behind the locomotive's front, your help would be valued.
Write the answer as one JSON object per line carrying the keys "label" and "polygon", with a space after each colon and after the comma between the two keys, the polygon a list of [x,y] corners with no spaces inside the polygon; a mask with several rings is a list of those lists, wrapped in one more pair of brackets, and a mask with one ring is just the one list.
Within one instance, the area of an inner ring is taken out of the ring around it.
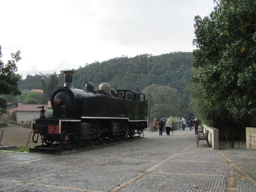
{"label": "pale-walled building with reddish tiled roof just behind the locomotive's front", "polygon": [[34,122],[40,117],[41,107],[44,106],[45,111],[47,111],[48,105],[34,105],[34,104],[20,104],[18,105],[16,122],[17,124],[22,124],[26,122]]}

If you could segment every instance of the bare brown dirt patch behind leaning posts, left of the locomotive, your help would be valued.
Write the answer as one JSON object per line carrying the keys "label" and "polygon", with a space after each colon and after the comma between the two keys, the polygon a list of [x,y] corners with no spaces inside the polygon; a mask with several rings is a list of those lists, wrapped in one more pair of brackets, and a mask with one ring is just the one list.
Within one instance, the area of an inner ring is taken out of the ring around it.
{"label": "bare brown dirt patch behind leaning posts, left of the locomotive", "polygon": [[2,146],[15,145],[17,147],[26,147],[28,137],[31,131],[32,133],[28,143],[29,147],[35,146],[35,143],[33,143],[32,141],[33,130],[31,128],[20,127],[18,125],[8,123],[7,127],[0,127],[0,136],[2,135],[2,132],[3,132],[3,137],[0,143],[1,144],[0,146],[2,147]]}

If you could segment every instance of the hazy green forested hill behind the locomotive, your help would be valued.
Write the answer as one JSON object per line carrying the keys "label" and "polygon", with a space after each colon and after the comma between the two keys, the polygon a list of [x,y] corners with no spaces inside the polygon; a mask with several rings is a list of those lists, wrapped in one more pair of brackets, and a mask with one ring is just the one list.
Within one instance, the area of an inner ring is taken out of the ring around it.
{"label": "hazy green forested hill behind the locomotive", "polygon": [[[71,69],[75,71],[73,86],[84,89],[88,81],[97,90],[102,82],[107,82],[115,89],[134,90],[138,86],[141,91],[151,84],[158,84],[175,88],[183,96],[182,86],[190,79],[192,59],[192,52],[172,52],[159,56],[122,56],[101,63],[95,61],[79,69]],[[63,85],[64,74],[60,72],[57,75],[59,84]],[[26,79],[19,81],[19,89],[41,89],[41,78],[48,84],[50,75],[27,75]]]}

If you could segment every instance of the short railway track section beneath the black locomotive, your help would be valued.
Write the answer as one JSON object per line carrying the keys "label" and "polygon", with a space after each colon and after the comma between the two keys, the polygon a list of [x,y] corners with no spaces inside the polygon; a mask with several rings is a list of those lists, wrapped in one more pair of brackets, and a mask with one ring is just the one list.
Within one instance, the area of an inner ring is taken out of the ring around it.
{"label": "short railway track section beneath the black locomotive", "polygon": [[142,136],[134,136],[127,138],[105,138],[104,141],[86,141],[82,143],[71,143],[69,145],[61,145],[59,143],[51,144],[51,145],[37,145],[35,147],[29,147],[29,152],[36,153],[63,153],[65,151],[73,151],[73,150],[90,150],[100,147],[105,147],[108,145],[116,145],[119,143],[130,142],[137,139],[143,138]]}

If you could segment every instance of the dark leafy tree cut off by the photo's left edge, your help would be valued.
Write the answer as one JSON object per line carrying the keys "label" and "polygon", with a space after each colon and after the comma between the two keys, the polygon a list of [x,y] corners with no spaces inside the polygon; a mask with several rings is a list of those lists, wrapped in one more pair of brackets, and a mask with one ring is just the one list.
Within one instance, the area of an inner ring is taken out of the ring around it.
{"label": "dark leafy tree cut off by the photo's left edge", "polygon": [[[8,60],[5,65],[3,60],[0,59],[0,114],[6,112],[6,101],[1,95],[20,95],[21,91],[18,89],[18,81],[21,76],[17,72],[18,68],[16,63],[21,59],[20,51],[11,53],[12,60]],[[0,58],[3,58],[2,47],[0,46]]]}

